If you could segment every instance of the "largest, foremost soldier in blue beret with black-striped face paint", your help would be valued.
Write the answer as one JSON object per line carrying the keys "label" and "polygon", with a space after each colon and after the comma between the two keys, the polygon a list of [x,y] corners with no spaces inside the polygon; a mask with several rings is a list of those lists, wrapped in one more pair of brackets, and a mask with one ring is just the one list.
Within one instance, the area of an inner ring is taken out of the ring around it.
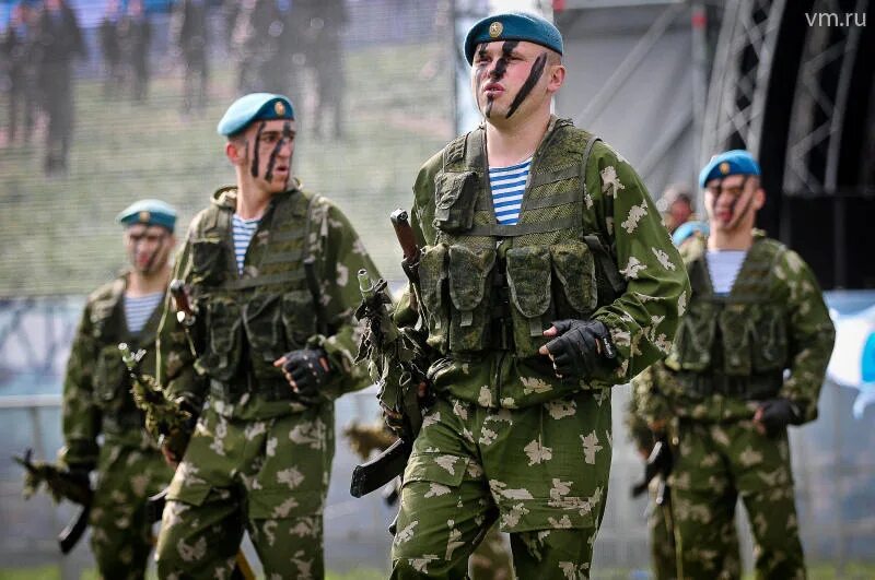
{"label": "largest, foremost soldier in blue beret with black-striped face paint", "polygon": [[[464,577],[497,520],[517,577],[583,578],[607,496],[610,387],[668,352],[687,277],[632,167],[550,115],[559,31],[499,14],[465,52],[485,123],[413,186],[435,402],[404,474],[393,578]],[[533,154],[514,224],[493,196]]]}

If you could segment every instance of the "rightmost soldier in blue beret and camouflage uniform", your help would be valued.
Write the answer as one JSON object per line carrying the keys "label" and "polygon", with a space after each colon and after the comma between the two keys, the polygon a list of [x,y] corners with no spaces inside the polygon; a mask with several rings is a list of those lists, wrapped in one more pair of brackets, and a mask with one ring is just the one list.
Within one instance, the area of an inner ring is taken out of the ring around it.
{"label": "rightmost soldier in blue beret and camouflage uniform", "polygon": [[765,203],[759,175],[746,151],[702,169],[710,234],[682,247],[688,313],[665,364],[634,386],[651,427],[673,439],[685,578],[740,576],[726,565],[739,496],[757,577],[805,577],[786,427],[817,417],[835,330],[808,265],[754,229]]}

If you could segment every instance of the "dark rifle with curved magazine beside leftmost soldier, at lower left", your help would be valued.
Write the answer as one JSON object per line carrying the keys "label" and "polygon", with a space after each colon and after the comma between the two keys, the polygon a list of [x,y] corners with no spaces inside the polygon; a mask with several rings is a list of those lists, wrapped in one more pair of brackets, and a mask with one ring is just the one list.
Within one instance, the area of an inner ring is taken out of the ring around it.
{"label": "dark rifle with curved magazine beside leftmost soldier, at lower left", "polygon": [[19,455],[12,457],[16,463],[27,471],[24,477],[24,498],[30,499],[45,485],[46,490],[51,495],[56,504],[61,499],[67,499],[82,506],[79,513],[58,534],[58,546],[61,548],[61,554],[69,554],[82,538],[82,534],[89,525],[91,500],[94,493],[86,477],[78,477],[69,471],[61,470],[57,465],[45,461],[34,463],[31,461],[32,455],[33,450],[27,449],[23,458]]}

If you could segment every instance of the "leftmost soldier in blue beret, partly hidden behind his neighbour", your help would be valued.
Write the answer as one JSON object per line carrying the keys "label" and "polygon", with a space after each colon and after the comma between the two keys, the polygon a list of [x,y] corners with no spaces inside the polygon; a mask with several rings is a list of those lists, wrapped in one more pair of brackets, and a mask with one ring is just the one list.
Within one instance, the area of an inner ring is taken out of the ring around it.
{"label": "leftmost soldier in blue beret, partly hidden behind his neighbour", "polygon": [[118,343],[147,350],[143,364],[154,365],[175,220],[175,211],[155,200],[119,214],[131,269],[89,297],[67,365],[59,459],[74,474],[96,471],[89,523],[103,578],[143,578],[152,549],[145,500],[173,474],[133,403]]}

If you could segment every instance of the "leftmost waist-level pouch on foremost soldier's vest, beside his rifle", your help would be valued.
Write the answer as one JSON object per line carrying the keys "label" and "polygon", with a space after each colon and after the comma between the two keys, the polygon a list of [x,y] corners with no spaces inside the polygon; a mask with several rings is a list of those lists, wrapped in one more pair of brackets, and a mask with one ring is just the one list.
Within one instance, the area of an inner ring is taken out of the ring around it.
{"label": "leftmost waist-level pouch on foremost soldier's vest, beside his rifle", "polygon": [[446,354],[450,341],[450,303],[446,298],[446,244],[425,247],[419,259],[419,292],[429,328],[425,343]]}

